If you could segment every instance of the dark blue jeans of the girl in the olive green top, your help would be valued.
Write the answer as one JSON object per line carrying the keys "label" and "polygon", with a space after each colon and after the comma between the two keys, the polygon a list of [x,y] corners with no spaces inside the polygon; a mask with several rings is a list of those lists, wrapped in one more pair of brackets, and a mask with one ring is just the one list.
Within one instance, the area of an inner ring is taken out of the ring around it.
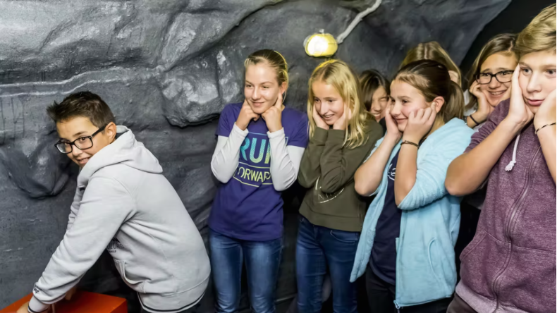
{"label": "dark blue jeans of the girl in the olive green top", "polygon": [[316,226],[300,217],[296,243],[298,312],[319,313],[323,278],[329,267],[333,312],[357,312],[356,284],[350,283],[360,233]]}

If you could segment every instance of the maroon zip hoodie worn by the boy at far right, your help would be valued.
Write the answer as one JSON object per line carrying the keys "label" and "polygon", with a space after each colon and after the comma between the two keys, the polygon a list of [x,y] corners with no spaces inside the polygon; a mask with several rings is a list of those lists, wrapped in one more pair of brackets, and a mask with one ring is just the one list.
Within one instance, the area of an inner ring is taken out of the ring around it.
{"label": "maroon zip hoodie worn by the boy at far right", "polygon": [[[466,151],[482,142],[507,116],[501,102],[472,136]],[[556,187],[534,125],[522,129],[513,159],[510,142],[491,169],[474,240],[460,255],[456,293],[479,313],[555,312]]]}

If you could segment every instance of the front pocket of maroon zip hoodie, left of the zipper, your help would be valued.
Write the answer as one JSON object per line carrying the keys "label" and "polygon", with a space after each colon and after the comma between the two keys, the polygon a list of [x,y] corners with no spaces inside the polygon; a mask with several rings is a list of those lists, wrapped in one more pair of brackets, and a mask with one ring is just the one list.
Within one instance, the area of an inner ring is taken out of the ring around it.
{"label": "front pocket of maroon zip hoodie, left of the zipper", "polygon": [[509,243],[480,231],[460,256],[461,280],[475,293],[495,299],[493,283],[503,270],[509,252]]}

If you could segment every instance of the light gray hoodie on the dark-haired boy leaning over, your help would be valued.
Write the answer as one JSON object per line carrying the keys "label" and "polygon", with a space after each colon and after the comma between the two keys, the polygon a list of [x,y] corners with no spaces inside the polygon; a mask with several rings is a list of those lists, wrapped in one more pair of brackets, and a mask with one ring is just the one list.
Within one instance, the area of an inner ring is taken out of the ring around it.
{"label": "light gray hoodie on the dark-haired boy leaning over", "polygon": [[128,128],[117,132],[80,171],[66,234],[30,312],[61,300],[104,249],[148,312],[180,312],[204,295],[210,266],[199,231],[157,158]]}

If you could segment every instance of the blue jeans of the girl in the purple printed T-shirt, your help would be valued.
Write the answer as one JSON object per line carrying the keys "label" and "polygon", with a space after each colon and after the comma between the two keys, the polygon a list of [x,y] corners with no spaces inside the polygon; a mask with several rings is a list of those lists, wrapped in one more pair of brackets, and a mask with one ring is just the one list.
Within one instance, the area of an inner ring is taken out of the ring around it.
{"label": "blue jeans of the girl in the purple printed T-shirt", "polygon": [[255,313],[275,312],[276,280],[281,263],[282,238],[249,241],[211,231],[211,269],[216,291],[216,313],[238,311],[242,265],[247,269],[247,291]]}

